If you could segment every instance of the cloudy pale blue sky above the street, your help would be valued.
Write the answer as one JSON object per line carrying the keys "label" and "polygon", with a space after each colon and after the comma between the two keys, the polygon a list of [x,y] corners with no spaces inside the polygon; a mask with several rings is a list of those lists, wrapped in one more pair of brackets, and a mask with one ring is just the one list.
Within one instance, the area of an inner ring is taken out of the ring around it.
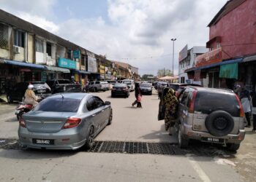
{"label": "cloudy pale blue sky above the street", "polygon": [[[178,74],[178,52],[206,46],[208,23],[227,0],[0,0],[0,9],[139,74]],[[173,62],[173,41],[174,62]]]}

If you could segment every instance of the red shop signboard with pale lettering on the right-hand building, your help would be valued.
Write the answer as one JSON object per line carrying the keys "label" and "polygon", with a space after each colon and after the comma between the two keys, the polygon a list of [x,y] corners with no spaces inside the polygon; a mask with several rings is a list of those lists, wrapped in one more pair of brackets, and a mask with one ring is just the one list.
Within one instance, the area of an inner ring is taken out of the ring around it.
{"label": "red shop signboard with pale lettering on the right-hand building", "polygon": [[198,68],[200,66],[211,65],[219,62],[222,62],[222,48],[197,56],[197,58],[195,58],[195,67]]}

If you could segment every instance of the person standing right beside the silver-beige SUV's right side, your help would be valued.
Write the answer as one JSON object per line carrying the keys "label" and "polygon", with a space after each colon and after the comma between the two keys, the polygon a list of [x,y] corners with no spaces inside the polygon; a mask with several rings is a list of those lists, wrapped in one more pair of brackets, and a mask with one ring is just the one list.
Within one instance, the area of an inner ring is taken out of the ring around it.
{"label": "person standing right beside the silver-beige SUV's right side", "polygon": [[251,96],[249,95],[249,91],[246,90],[245,87],[242,87],[241,93],[240,93],[240,100],[244,108],[244,114],[246,117],[247,124],[245,127],[251,127],[251,120],[249,117],[249,113],[251,112]]}

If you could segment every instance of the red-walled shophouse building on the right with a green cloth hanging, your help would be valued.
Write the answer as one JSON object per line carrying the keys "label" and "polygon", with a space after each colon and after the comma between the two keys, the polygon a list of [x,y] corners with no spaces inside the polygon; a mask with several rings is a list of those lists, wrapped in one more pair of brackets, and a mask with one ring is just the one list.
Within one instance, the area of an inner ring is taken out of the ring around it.
{"label": "red-walled shophouse building on the right with a green cloth hanging", "polygon": [[230,0],[208,24],[210,49],[196,58],[189,77],[206,78],[208,87],[233,89],[241,84],[255,90],[256,23],[255,0]]}

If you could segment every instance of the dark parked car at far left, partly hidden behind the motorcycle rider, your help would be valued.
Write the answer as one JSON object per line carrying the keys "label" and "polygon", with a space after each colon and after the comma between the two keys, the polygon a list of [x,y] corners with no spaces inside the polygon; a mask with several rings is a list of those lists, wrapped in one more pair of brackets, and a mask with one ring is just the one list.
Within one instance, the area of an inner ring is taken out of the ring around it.
{"label": "dark parked car at far left, partly hidden behind the motorcycle rider", "polygon": [[51,95],[50,87],[45,82],[19,82],[15,84],[14,87],[10,87],[7,91],[7,101],[12,103],[13,100],[22,101],[26,89],[29,83],[34,85],[35,95],[41,96],[41,98],[46,98]]}

